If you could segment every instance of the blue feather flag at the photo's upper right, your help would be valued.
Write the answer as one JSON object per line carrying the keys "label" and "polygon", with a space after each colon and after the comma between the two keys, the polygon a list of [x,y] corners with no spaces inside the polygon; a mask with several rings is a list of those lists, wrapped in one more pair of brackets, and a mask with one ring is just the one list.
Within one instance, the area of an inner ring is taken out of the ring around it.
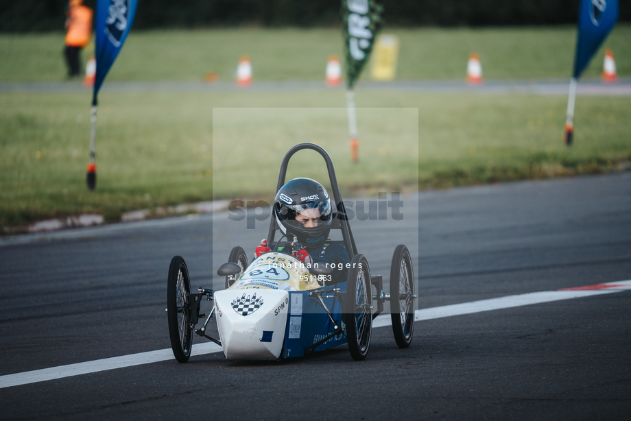
{"label": "blue feather flag at the photo's upper right", "polygon": [[618,0],[581,0],[573,77],[578,79],[618,20]]}

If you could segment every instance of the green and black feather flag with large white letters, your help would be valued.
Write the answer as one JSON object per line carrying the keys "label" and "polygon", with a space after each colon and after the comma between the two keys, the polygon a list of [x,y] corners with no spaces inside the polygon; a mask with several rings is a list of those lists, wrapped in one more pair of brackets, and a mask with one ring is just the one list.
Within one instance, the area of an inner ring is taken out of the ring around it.
{"label": "green and black feather flag with large white letters", "polygon": [[344,41],[346,43],[346,79],[348,88],[368,62],[374,37],[381,29],[383,5],[376,0],[342,0]]}

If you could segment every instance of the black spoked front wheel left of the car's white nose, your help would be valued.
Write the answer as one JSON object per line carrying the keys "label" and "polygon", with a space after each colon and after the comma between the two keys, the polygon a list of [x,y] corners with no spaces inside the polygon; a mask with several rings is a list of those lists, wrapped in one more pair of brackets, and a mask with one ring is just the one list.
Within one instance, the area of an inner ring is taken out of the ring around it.
{"label": "black spoked front wheel left of the car's white nose", "polygon": [[171,349],[180,363],[189,361],[193,347],[191,329],[191,280],[184,259],[175,256],[169,266],[167,280],[167,319]]}

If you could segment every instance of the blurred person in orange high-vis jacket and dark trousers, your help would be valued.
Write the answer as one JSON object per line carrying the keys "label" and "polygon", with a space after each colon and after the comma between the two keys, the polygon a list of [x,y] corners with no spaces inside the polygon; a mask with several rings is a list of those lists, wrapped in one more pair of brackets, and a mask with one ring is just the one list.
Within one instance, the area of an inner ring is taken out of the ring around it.
{"label": "blurred person in orange high-vis jacket and dark trousers", "polygon": [[80,75],[79,53],[90,42],[92,32],[92,9],[83,5],[83,0],[68,2],[66,19],[66,61],[69,77]]}

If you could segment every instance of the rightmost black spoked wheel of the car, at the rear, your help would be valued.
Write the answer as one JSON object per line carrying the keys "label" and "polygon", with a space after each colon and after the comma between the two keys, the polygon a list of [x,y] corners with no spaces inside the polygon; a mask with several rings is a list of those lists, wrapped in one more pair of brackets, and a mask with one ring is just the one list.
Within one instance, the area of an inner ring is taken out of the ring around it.
{"label": "rightmost black spoked wheel of the car, at the rear", "polygon": [[414,335],[414,270],[403,244],[394,249],[390,265],[390,316],[396,344],[407,348]]}

